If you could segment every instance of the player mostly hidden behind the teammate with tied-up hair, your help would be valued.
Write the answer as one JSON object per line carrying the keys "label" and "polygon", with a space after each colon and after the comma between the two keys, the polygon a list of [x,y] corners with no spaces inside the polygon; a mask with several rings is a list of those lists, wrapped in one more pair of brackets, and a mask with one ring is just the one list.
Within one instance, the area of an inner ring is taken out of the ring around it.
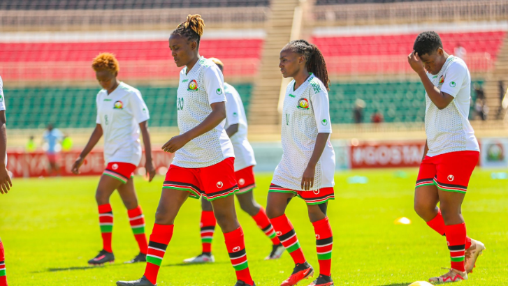
{"label": "player mostly hidden behind the teammate with tied-up hair", "polygon": [[[224,63],[219,59],[211,58],[221,70]],[[243,108],[242,98],[238,91],[230,84],[224,83],[224,94],[226,95],[226,133],[233,143],[235,151],[235,177],[238,182],[236,197],[240,208],[252,216],[256,225],[272,240],[273,246],[270,255],[266,259],[280,258],[284,253],[284,246],[275,235],[275,230],[266,216],[265,209],[254,199],[252,190],[256,186],[254,181],[253,167],[256,165],[254,150],[247,140],[247,117]],[[203,253],[196,257],[185,259],[186,263],[214,262],[212,255],[212,238],[215,230],[215,216],[213,215],[212,204],[208,200],[201,199],[201,244]]]}

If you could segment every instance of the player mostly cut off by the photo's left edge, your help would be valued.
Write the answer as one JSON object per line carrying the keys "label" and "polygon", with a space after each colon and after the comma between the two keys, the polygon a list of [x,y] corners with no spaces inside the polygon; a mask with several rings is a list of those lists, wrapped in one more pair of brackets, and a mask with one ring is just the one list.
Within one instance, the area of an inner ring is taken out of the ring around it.
{"label": "player mostly cut off by the photo's left edge", "polygon": [[[3,97],[3,82],[0,77],[0,194],[6,194],[13,186],[7,171],[6,100]],[[0,239],[0,286],[7,286],[6,257]]]}

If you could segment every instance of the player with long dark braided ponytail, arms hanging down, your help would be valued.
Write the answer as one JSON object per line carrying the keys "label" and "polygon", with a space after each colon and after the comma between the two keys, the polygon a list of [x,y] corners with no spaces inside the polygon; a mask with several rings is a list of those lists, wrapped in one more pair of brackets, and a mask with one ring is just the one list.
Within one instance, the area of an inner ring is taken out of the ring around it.
{"label": "player with long dark braided ponytail, arms hanging down", "polygon": [[279,68],[293,77],[286,88],[282,114],[282,160],[273,174],[266,213],[282,245],[296,266],[281,285],[296,285],[314,274],[303,256],[293,225],[284,212],[292,197],[307,203],[316,233],[319,277],[312,286],[333,285],[331,278],[332,230],[326,217],[328,200],[334,199],[335,152],[328,101],[328,72],[316,45],[293,40],[280,52]]}

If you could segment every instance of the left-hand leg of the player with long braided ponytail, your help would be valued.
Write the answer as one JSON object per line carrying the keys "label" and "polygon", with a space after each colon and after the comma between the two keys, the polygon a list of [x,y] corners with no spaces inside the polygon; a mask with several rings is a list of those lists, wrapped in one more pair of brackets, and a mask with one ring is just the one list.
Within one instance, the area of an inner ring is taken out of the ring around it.
{"label": "left-hand leg of the player with long braided ponytail", "polygon": [[266,214],[270,218],[275,233],[295,263],[293,273],[282,282],[282,286],[296,285],[300,280],[314,274],[314,269],[307,263],[303,255],[295,229],[285,214],[289,201],[295,195],[295,190],[285,189],[272,184],[268,192],[268,202],[266,205]]}

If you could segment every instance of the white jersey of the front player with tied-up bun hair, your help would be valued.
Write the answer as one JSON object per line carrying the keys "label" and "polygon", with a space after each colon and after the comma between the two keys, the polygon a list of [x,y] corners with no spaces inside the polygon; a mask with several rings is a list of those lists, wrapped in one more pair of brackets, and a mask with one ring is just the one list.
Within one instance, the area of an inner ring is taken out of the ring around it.
{"label": "white jersey of the front player with tied-up bun hair", "polygon": [[[180,134],[198,126],[212,113],[212,103],[226,101],[224,77],[219,67],[201,57],[187,73],[180,72],[177,91],[178,128]],[[235,157],[224,121],[207,133],[189,141],[175,152],[173,165],[184,168],[202,168],[215,165],[226,158]]]}

